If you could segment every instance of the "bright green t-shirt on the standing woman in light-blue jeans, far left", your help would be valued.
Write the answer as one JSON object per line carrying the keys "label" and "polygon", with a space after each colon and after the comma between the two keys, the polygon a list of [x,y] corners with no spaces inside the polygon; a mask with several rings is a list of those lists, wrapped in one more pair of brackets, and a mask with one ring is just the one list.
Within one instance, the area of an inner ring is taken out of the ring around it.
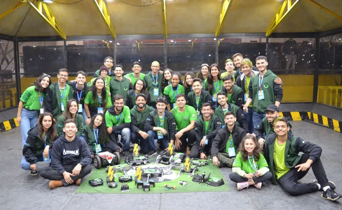
{"label": "bright green t-shirt on the standing woman in light-blue jeans, far left", "polygon": [[42,107],[44,107],[45,94],[38,92],[35,89],[36,86],[28,87],[20,97],[20,101],[24,102],[24,108],[38,111],[40,109],[39,93],[40,98],[43,100]]}

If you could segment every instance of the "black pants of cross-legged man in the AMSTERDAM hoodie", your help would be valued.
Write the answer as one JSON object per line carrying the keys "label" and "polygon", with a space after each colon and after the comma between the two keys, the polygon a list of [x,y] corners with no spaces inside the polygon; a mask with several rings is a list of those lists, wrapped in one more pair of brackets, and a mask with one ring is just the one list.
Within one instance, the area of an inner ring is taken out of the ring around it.
{"label": "black pants of cross-legged man in the AMSTERDAM hoodie", "polygon": [[[73,173],[73,169],[75,168],[76,165],[67,165],[67,166],[63,166],[64,170],[66,172],[69,173]],[[83,178],[84,176],[86,176],[88,173],[91,172],[91,166],[87,165],[87,166],[82,166],[82,169],[80,171],[80,174],[78,176],[71,176],[71,179],[74,180],[74,182],[78,179]],[[62,174],[60,174],[58,171],[56,171],[55,168],[49,166],[44,168],[41,172],[40,172],[40,176],[42,178],[48,179],[48,180],[61,180],[64,186],[68,186],[69,184],[65,182],[64,180],[64,176]]]}

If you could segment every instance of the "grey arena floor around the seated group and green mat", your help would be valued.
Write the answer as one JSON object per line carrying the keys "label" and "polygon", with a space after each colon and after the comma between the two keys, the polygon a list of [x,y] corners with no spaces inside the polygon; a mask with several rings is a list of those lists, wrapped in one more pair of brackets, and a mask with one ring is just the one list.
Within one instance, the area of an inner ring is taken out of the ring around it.
{"label": "grey arena floor around the seated group and green mat", "polygon": [[[328,179],[342,193],[342,134],[304,121],[293,121],[293,133],[323,148],[321,160]],[[261,190],[251,187],[238,192],[229,180],[232,169],[221,169],[230,192],[167,194],[75,194],[77,186],[49,189],[48,180],[31,176],[20,168],[20,128],[0,134],[0,209],[342,209],[342,199],[329,201],[321,191],[292,197],[280,186],[267,182]],[[47,166],[37,163],[37,170]],[[310,172],[300,182],[311,182]]]}

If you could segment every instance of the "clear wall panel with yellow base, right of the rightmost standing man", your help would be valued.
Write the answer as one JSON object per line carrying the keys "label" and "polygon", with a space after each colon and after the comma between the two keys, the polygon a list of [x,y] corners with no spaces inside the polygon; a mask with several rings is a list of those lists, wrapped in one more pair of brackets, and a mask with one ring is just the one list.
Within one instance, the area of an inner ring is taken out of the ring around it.
{"label": "clear wall panel with yellow base, right of the rightmost standing man", "polygon": [[269,38],[268,42],[268,68],[284,82],[281,102],[312,102],[315,39]]}

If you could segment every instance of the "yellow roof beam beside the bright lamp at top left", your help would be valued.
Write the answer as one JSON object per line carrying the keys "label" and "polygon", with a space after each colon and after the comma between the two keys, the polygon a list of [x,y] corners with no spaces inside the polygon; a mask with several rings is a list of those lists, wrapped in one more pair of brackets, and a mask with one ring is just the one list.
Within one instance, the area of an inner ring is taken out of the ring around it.
{"label": "yellow roof beam beside the bright lamp at top left", "polygon": [[[30,1],[26,1],[26,2],[57,32],[58,35],[60,35],[60,37],[62,37],[62,39],[66,39],[66,35],[64,31],[62,30],[60,24],[56,20],[55,15],[52,13],[51,9],[45,2],[39,0],[38,8],[34,4],[32,4]],[[48,18],[43,15],[43,9],[45,13],[47,14]]]}

